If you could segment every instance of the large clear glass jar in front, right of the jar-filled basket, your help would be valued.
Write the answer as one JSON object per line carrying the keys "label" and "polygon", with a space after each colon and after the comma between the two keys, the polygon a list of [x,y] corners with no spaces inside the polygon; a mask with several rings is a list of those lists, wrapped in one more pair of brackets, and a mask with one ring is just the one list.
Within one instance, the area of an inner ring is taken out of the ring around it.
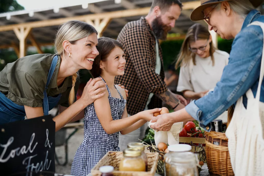
{"label": "large clear glass jar in front, right of the jar-filled basket", "polygon": [[169,152],[164,161],[165,176],[198,176],[197,164],[192,152]]}

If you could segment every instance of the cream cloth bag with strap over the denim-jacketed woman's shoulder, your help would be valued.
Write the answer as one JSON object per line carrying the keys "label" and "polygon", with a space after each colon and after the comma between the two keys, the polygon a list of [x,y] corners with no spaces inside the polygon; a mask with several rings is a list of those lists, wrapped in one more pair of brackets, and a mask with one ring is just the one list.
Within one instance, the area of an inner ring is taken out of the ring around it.
{"label": "cream cloth bag with strap over the denim-jacketed woman's shoulder", "polygon": [[[253,22],[249,25],[260,26],[264,34],[264,23]],[[225,132],[232,168],[237,176],[264,176],[264,103],[260,102],[263,75],[264,47],[256,98],[251,89],[246,92],[247,109],[243,106],[243,97],[238,99]]]}

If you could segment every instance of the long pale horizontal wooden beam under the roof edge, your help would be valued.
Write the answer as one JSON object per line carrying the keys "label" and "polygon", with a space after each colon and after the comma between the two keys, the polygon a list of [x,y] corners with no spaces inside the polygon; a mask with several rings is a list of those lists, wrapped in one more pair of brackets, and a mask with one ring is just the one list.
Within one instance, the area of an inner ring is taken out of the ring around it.
{"label": "long pale horizontal wooden beam under the roof edge", "polygon": [[[182,4],[183,4],[183,10],[194,9],[200,6],[200,1],[184,2]],[[45,27],[45,26],[56,26],[56,25],[60,25],[70,20],[86,21],[87,19],[95,20],[98,18],[103,19],[105,17],[113,19],[113,18],[123,18],[123,17],[131,17],[131,16],[140,16],[140,15],[148,14],[149,9],[150,7],[144,7],[144,8],[137,8],[137,9],[114,11],[114,12],[104,12],[100,14],[89,14],[89,15],[74,16],[74,17],[67,17],[67,18],[58,18],[58,19],[53,19],[53,20],[26,22],[26,23],[20,23],[16,25],[1,26],[0,31],[10,31],[10,30],[13,30],[13,28],[20,28],[20,27],[36,28],[36,27]]]}

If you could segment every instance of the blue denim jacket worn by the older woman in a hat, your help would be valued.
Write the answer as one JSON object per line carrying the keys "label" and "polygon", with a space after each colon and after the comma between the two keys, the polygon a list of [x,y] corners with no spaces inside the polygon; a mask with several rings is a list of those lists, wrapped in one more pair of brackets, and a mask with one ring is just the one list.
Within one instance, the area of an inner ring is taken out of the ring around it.
{"label": "blue denim jacket worn by the older woman in a hat", "polygon": [[[257,10],[249,12],[241,31],[235,36],[228,65],[225,66],[214,91],[192,101],[185,107],[186,111],[198,120],[200,126],[206,131],[211,130],[210,122],[235,104],[241,96],[243,96],[243,104],[246,108],[245,94],[248,89],[251,88],[254,97],[256,97],[260,77],[263,32],[260,26],[248,26],[253,21],[264,22],[264,16],[260,15]],[[260,101],[264,102],[263,81]]]}

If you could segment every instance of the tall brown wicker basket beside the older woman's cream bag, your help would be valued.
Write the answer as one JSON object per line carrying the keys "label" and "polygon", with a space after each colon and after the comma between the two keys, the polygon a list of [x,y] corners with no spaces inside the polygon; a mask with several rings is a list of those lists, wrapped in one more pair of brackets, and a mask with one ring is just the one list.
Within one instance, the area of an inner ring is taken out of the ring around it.
{"label": "tall brown wicker basket beside the older woman's cream bag", "polygon": [[[228,139],[222,132],[205,132],[206,161],[209,173],[221,176],[233,176],[228,152]],[[213,144],[218,142],[219,145]]]}

